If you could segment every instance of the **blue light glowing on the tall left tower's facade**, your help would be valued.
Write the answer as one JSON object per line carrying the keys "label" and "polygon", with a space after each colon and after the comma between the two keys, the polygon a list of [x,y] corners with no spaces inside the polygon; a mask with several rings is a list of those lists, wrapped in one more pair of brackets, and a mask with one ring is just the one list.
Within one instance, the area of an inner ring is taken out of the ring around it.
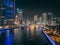
{"label": "blue light glowing on the tall left tower's facade", "polygon": [[[14,6],[14,2],[13,1],[9,1],[9,0],[4,0],[4,4],[6,6],[6,18],[13,18],[14,15],[14,10],[13,10],[13,6]],[[10,9],[11,8],[11,9]]]}

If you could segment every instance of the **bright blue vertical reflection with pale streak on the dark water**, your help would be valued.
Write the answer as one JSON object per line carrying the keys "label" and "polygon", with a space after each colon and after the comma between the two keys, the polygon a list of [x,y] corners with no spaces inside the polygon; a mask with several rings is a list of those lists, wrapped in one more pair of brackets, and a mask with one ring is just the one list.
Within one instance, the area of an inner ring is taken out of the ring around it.
{"label": "bright blue vertical reflection with pale streak on the dark water", "polygon": [[13,42],[14,42],[14,36],[13,36],[13,33],[11,32],[11,30],[7,30],[6,31],[6,39],[5,39],[5,45],[13,45]]}

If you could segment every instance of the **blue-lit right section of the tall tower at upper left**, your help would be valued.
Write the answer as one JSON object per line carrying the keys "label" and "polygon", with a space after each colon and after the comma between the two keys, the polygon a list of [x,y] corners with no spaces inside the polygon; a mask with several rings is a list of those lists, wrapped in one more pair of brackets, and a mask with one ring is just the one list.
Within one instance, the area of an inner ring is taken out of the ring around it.
{"label": "blue-lit right section of the tall tower at upper left", "polygon": [[14,18],[15,16],[15,0],[4,0],[3,5],[5,6],[5,16],[6,18]]}

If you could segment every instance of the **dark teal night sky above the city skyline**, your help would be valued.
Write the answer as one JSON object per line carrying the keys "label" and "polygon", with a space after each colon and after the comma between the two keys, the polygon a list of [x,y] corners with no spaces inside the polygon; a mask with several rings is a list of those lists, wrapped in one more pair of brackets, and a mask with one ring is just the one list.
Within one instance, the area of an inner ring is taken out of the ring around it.
{"label": "dark teal night sky above the city skyline", "polygon": [[16,0],[16,8],[23,9],[24,17],[41,16],[41,12],[52,12],[60,16],[60,1],[58,0]]}

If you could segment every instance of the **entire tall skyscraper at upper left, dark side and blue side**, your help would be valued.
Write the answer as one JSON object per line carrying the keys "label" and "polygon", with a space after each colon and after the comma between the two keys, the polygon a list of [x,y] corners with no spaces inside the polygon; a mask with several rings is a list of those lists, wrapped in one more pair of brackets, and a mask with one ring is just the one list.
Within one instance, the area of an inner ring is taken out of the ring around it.
{"label": "entire tall skyscraper at upper left, dark side and blue side", "polygon": [[[0,0],[1,1],[1,19],[2,24],[4,21],[6,23],[9,21],[9,19],[14,19],[15,16],[15,0]],[[8,21],[7,21],[8,20]]]}

